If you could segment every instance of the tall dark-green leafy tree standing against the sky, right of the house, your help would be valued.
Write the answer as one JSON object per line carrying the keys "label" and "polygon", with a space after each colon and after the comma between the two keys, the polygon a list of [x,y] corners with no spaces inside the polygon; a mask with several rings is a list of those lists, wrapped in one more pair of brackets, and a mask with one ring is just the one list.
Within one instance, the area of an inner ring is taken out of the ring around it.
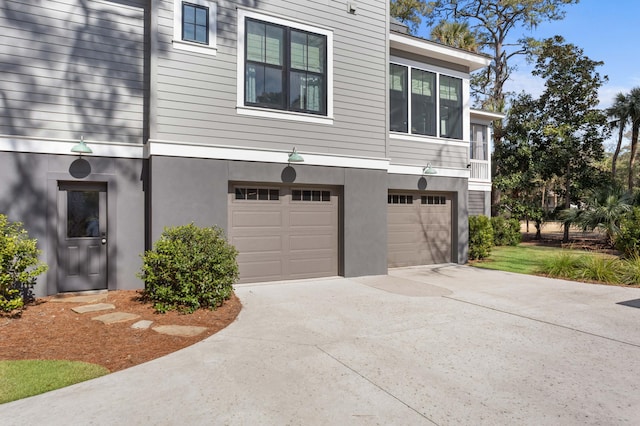
{"label": "tall dark-green leafy tree standing against the sky, right of the house", "polygon": [[[544,40],[534,52],[533,75],[545,79],[538,99],[541,127],[534,138],[541,156],[544,178],[564,181],[565,208],[571,207],[573,192],[598,184],[595,162],[602,160],[607,138],[606,115],[598,110],[598,89],[607,80],[596,71],[602,62],[584,56],[582,49],[555,36]],[[569,225],[564,238],[569,239]]]}

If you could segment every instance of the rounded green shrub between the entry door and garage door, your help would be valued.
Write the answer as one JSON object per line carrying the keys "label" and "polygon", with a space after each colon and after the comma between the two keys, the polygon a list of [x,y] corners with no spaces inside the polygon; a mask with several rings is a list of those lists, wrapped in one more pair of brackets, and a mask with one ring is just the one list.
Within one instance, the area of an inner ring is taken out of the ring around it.
{"label": "rounded green shrub between the entry door and garage door", "polygon": [[142,256],[144,298],[159,312],[216,309],[238,280],[237,253],[218,227],[165,228],[154,249]]}

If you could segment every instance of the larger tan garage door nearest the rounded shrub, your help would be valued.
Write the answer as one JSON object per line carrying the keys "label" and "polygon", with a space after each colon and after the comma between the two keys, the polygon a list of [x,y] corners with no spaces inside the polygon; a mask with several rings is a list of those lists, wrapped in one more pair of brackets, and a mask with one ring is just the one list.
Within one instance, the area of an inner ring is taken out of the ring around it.
{"label": "larger tan garage door nearest the rounded shrub", "polygon": [[241,283],[338,275],[334,189],[233,185],[228,229]]}

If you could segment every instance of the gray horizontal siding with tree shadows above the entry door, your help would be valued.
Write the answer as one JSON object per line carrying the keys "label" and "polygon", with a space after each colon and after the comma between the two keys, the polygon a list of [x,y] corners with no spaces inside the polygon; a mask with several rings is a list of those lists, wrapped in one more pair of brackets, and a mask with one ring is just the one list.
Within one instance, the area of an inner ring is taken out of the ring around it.
{"label": "gray horizontal siding with tree shadows above the entry door", "polygon": [[0,8],[0,134],[142,142],[144,0]]}

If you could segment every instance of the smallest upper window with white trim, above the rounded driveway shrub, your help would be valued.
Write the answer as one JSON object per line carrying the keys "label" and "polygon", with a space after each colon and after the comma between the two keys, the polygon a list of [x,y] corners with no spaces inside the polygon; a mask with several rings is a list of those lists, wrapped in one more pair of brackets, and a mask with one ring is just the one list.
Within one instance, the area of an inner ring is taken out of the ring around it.
{"label": "smallest upper window with white trim, above the rounded driveway shrub", "polygon": [[173,46],[216,54],[216,3],[210,0],[174,0]]}

